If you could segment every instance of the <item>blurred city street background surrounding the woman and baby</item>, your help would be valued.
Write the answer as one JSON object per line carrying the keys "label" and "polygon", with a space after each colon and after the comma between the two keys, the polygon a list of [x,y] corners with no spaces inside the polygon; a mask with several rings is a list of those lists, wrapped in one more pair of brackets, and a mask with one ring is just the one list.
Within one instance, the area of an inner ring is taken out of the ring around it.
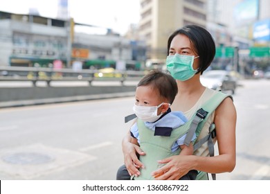
{"label": "blurred city street background surrounding the woman and baby", "polygon": [[237,168],[217,178],[270,179],[269,8],[268,0],[0,0],[0,179],[115,179],[136,83],[166,71],[168,37],[186,24],[215,39],[201,82],[230,92],[237,107]]}

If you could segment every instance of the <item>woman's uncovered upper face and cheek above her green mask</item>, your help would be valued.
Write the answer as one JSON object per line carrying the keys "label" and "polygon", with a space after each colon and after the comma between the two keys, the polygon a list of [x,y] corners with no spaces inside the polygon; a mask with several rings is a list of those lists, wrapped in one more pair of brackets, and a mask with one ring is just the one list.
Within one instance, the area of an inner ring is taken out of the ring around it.
{"label": "woman's uncovered upper face and cheek above her green mask", "polygon": [[[169,55],[190,55],[197,57],[197,53],[192,49],[190,39],[186,35],[176,35],[170,43]],[[193,62],[193,69],[199,68],[199,58],[195,58]]]}

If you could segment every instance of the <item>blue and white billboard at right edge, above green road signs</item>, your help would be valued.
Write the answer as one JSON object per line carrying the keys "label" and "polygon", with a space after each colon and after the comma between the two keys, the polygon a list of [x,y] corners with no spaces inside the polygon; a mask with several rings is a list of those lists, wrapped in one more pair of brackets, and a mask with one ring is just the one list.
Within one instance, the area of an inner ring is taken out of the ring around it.
{"label": "blue and white billboard at right edge, above green road signs", "polygon": [[256,41],[270,41],[270,19],[255,22],[253,39]]}

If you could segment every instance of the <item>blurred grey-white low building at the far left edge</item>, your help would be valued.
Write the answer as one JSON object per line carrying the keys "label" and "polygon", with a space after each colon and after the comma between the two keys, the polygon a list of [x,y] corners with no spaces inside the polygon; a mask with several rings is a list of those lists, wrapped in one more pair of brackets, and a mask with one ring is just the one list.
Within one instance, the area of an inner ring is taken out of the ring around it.
{"label": "blurred grey-white low building at the far left edge", "polygon": [[32,66],[67,57],[66,21],[0,12],[0,65]]}

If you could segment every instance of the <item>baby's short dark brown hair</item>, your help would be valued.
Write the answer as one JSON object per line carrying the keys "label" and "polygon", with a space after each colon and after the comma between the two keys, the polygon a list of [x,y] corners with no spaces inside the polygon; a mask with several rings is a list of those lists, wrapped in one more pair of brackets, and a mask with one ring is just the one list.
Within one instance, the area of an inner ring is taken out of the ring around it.
{"label": "baby's short dark brown hair", "polygon": [[160,97],[167,99],[170,104],[172,104],[178,92],[176,80],[174,80],[170,74],[157,69],[153,69],[147,73],[140,82],[138,82],[137,87],[146,85],[150,85],[152,89],[158,91]]}

